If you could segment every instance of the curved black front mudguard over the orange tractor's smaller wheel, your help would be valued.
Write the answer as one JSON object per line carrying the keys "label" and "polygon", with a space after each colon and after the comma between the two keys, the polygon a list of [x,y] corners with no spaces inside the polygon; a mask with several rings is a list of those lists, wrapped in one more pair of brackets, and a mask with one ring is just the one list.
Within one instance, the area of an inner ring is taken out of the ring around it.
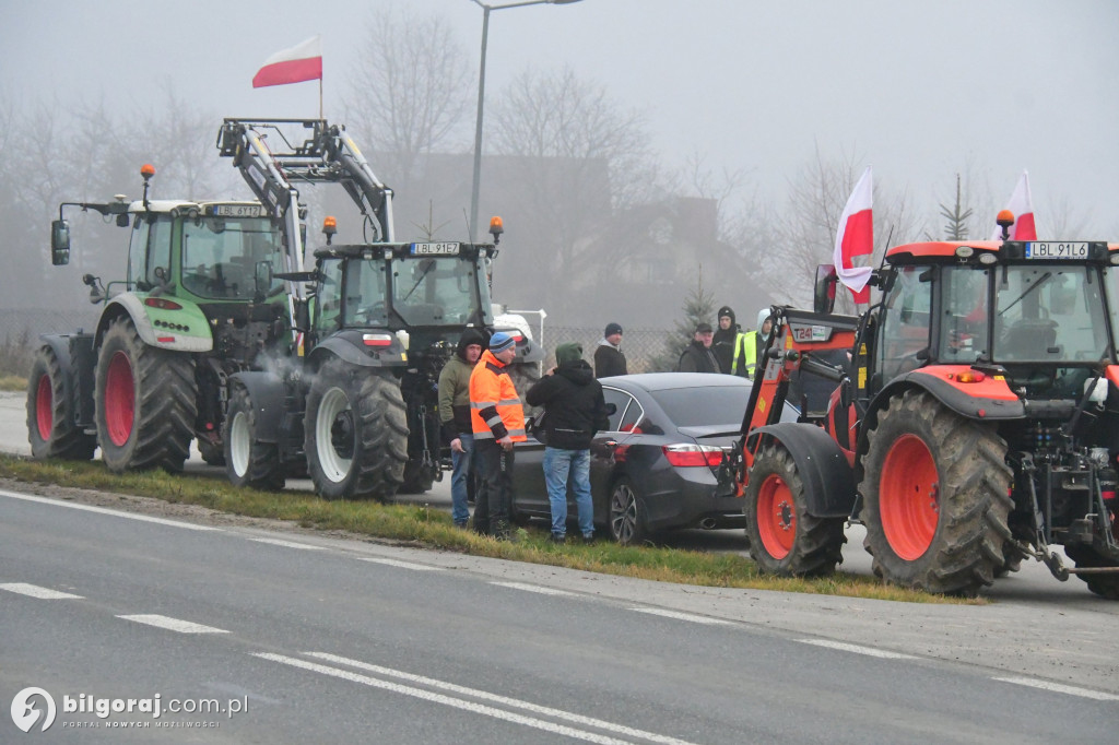
{"label": "curved black front mudguard over the orange tractor's smaller wheel", "polygon": [[750,433],[780,442],[797,465],[805,484],[808,513],[817,518],[850,517],[855,508],[855,475],[843,450],[815,424],[781,422]]}

